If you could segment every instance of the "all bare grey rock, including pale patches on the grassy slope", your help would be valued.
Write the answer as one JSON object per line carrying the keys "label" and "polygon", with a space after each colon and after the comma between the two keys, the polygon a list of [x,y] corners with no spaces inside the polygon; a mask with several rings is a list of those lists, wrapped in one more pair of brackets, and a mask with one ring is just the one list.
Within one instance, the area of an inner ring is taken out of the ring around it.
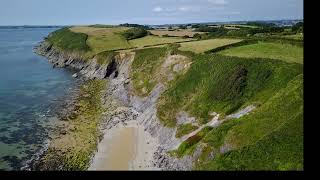
{"label": "all bare grey rock, including pale patches on the grassy slope", "polygon": [[[82,59],[80,56],[72,53],[64,53],[47,42],[42,42],[35,48],[35,52],[48,58],[54,67],[69,67],[79,70],[76,74],[82,75],[87,79],[108,79],[106,93],[104,95],[104,106],[107,112],[104,114],[101,130],[117,128],[118,125],[126,126],[129,121],[136,121],[144,127],[144,131],[152,137],[153,144],[157,144],[153,154],[153,160],[148,164],[148,168],[161,170],[191,170],[193,162],[199,157],[202,148],[199,146],[191,156],[175,158],[169,156],[169,150],[176,149],[179,144],[191,135],[199,132],[206,125],[217,126],[222,121],[218,121],[219,115],[212,114],[214,117],[208,124],[201,126],[198,130],[185,135],[182,138],[176,138],[176,128],[164,127],[158,117],[156,102],[166,86],[158,83],[147,97],[136,96],[133,92],[133,85],[130,77],[130,67],[134,60],[135,53],[119,53],[108,64],[98,64],[95,58],[90,60]],[[163,74],[167,75],[167,80],[173,79],[174,73],[186,71],[191,63],[188,63],[186,57],[181,55],[169,55],[162,65]],[[169,72],[167,67],[173,66],[173,72]],[[255,107],[247,108],[228,116],[226,119],[239,118]],[[186,112],[177,114],[177,123],[196,124],[194,117],[189,117]],[[228,148],[222,149],[226,151]],[[150,165],[150,166],[149,166]]]}

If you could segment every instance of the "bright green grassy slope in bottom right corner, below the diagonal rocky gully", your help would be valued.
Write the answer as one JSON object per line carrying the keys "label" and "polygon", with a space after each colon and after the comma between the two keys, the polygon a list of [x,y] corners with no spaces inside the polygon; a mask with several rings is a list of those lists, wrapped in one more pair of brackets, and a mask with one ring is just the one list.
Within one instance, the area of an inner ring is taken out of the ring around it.
{"label": "bright green grassy slope in bottom right corner, below the diagonal rocky gully", "polygon": [[[230,124],[230,123],[229,123]],[[226,129],[226,128],[224,128]],[[232,151],[204,160],[199,170],[302,170],[303,75],[254,113],[244,116],[223,133],[212,130],[204,138],[211,146],[232,145]]]}

